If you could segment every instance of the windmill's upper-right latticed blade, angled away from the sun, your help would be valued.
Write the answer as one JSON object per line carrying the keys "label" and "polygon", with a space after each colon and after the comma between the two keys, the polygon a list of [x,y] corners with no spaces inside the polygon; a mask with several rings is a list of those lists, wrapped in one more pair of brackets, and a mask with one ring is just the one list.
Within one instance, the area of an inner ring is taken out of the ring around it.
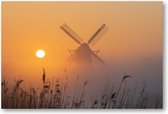
{"label": "windmill's upper-right latticed blade, angled away from the sun", "polygon": [[94,46],[107,30],[108,27],[105,24],[102,24],[95,34],[88,40],[88,44]]}

